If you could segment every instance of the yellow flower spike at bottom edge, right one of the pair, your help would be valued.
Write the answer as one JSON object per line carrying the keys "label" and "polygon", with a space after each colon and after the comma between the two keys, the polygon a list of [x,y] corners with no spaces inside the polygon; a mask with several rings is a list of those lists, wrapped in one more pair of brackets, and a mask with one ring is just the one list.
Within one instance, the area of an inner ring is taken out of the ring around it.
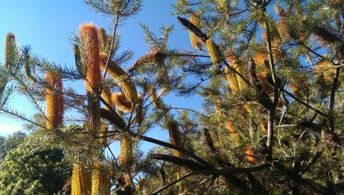
{"label": "yellow flower spike at bottom edge, right one of the pair", "polygon": [[92,195],[110,195],[110,172],[102,163],[92,170]]}

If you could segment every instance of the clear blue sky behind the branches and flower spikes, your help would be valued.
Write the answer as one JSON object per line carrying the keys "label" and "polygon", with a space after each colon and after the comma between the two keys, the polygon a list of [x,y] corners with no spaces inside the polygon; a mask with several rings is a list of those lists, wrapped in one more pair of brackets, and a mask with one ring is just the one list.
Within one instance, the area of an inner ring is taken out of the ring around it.
{"label": "clear blue sky behind the branches and flower spikes", "polygon": [[[107,29],[108,20],[99,17],[83,3],[82,0],[11,0],[0,1],[0,61],[3,62],[3,45],[6,33],[16,35],[19,45],[31,45],[35,54],[61,65],[74,65],[72,45],[68,41],[72,31],[77,31],[80,23],[93,22],[98,27]],[[123,50],[131,49],[136,61],[147,53],[143,43],[143,33],[139,23],[147,23],[153,32],[158,35],[161,25],[175,25],[171,35],[171,48],[190,49],[189,32],[182,28],[175,16],[170,13],[172,4],[170,0],[144,0],[143,10],[135,18],[126,21],[120,28]],[[128,64],[131,65],[131,64]],[[69,85],[74,83],[64,83]],[[75,85],[76,88],[84,88]],[[176,107],[200,108],[195,99],[189,101],[181,99],[166,99]],[[20,96],[14,96],[11,104],[20,107],[24,112],[30,113],[33,109]],[[6,116],[0,116],[0,136],[20,130],[21,123]],[[152,130],[149,133],[154,138],[167,139],[166,131]]]}

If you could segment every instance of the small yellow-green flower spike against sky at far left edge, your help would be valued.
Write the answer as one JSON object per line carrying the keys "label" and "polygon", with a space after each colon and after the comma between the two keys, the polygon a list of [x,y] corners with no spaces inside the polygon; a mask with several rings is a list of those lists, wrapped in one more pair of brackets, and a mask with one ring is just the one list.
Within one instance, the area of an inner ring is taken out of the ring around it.
{"label": "small yellow-green flower spike against sky at far left edge", "polygon": [[4,66],[6,68],[13,68],[15,65],[15,61],[17,58],[16,53],[16,37],[13,33],[9,32],[6,34],[5,39],[5,58],[4,58]]}

